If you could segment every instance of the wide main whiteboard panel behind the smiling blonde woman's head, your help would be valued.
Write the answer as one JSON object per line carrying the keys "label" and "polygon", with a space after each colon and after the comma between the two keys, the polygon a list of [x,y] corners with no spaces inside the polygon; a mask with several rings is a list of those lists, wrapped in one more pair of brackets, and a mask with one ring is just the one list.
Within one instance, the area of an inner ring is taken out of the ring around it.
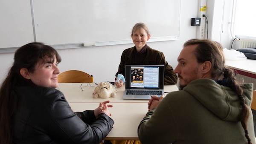
{"label": "wide main whiteboard panel behind the smiling blonde woman's head", "polygon": [[51,44],[131,40],[135,23],[151,39],[177,37],[181,0],[33,0],[37,41]]}

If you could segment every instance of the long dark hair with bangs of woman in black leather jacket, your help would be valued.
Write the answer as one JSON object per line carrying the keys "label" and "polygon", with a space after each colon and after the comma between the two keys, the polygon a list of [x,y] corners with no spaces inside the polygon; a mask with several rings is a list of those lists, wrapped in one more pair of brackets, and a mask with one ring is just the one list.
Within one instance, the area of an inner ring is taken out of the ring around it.
{"label": "long dark hair with bangs of woman in black leather jacket", "polygon": [[58,52],[44,43],[28,43],[15,52],[14,63],[0,88],[0,144],[12,144],[11,119],[17,109],[19,95],[15,92],[17,85],[35,86],[32,81],[20,75],[20,69],[35,71],[37,63],[50,58],[52,63],[56,57],[61,62]]}

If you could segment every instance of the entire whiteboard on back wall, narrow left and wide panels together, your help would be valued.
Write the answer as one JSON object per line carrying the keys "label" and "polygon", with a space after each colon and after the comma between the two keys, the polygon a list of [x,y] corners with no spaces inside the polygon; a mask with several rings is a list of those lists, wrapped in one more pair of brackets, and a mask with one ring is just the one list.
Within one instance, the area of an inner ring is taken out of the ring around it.
{"label": "entire whiteboard on back wall, narrow left and wide panels together", "polygon": [[148,26],[150,41],[173,40],[180,6],[181,0],[1,0],[0,51],[33,41],[53,47],[132,43],[139,22]]}

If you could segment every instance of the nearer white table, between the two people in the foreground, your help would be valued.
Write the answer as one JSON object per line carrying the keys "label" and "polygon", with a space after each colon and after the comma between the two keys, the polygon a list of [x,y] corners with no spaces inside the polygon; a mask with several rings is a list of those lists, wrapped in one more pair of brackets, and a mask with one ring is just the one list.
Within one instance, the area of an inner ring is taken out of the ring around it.
{"label": "nearer white table, between the two people in the foreground", "polygon": [[[105,140],[139,140],[137,129],[148,112],[148,105],[146,103],[111,103],[111,105],[113,107],[109,108],[110,117],[115,123]],[[70,103],[74,112],[93,110],[98,106],[98,103]]]}

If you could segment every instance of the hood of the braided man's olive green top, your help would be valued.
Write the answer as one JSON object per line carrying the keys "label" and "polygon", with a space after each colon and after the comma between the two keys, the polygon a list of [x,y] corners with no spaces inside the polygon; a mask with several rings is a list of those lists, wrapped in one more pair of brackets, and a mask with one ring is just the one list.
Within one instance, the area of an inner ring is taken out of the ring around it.
{"label": "hood of the braided man's olive green top", "polygon": [[[253,84],[244,84],[245,104],[250,107],[253,96]],[[217,84],[212,79],[197,79],[190,82],[184,91],[195,97],[207,109],[225,121],[239,121],[241,104],[239,97],[230,87]]]}

